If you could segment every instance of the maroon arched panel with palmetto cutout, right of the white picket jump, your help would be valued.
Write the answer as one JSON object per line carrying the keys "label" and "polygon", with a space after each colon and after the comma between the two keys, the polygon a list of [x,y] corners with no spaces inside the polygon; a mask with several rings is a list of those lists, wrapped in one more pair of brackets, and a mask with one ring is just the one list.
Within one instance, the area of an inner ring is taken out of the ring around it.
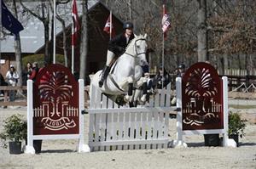
{"label": "maroon arched panel with palmetto cutout, right of the white picket jump", "polygon": [[183,130],[223,129],[223,87],[207,63],[189,67],[182,78]]}

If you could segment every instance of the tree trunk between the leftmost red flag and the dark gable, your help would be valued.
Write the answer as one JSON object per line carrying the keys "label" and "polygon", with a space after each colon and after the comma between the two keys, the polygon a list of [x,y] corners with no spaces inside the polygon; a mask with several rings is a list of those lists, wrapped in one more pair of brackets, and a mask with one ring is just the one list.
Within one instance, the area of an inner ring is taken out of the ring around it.
{"label": "tree trunk between the leftmost red flag and the dark gable", "polygon": [[[82,16],[82,31],[81,31],[81,42],[80,42],[80,72],[79,77],[85,81],[85,71],[87,65],[88,55],[88,0],[83,0],[83,16]],[[84,82],[85,84],[85,82]]]}

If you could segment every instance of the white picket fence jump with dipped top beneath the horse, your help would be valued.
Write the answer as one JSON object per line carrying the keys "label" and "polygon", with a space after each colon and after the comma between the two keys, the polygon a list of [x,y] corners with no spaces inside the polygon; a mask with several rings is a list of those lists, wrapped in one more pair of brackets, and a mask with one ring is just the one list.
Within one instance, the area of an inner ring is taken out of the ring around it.
{"label": "white picket fence jump with dipped top beneath the horse", "polygon": [[119,106],[96,87],[90,93],[91,151],[167,148],[171,84],[139,108]]}

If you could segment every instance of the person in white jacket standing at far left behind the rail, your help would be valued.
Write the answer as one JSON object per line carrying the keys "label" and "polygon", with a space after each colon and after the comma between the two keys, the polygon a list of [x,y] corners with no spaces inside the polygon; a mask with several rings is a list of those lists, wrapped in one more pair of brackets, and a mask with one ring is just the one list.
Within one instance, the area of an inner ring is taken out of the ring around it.
{"label": "person in white jacket standing at far left behind the rail", "polygon": [[[9,71],[6,74],[6,81],[8,82],[9,86],[15,87],[19,78],[20,78],[20,76],[16,72],[15,66],[10,65]],[[9,101],[15,101],[15,91],[14,90],[9,91]]]}

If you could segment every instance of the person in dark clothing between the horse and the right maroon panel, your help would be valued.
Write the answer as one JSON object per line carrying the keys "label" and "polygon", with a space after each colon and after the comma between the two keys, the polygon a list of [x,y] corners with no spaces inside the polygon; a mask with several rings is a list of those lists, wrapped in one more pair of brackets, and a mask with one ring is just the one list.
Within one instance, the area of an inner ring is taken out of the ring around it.
{"label": "person in dark clothing between the horse and the right maroon panel", "polygon": [[153,78],[153,87],[162,88],[166,87],[167,84],[171,82],[171,76],[166,70],[163,70],[162,65],[160,65],[159,72]]}

